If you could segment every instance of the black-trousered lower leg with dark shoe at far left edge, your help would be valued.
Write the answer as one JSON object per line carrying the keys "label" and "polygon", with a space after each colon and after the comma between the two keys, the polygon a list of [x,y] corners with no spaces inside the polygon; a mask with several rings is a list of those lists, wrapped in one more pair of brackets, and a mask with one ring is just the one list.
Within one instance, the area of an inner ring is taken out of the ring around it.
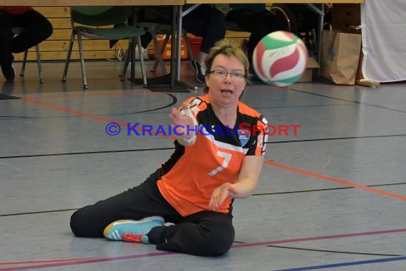
{"label": "black-trousered lower leg with dark shoe at far left edge", "polygon": [[16,76],[16,71],[12,66],[14,56],[11,53],[14,36],[11,33],[11,27],[13,25],[13,16],[0,11],[0,66],[7,81],[13,81]]}

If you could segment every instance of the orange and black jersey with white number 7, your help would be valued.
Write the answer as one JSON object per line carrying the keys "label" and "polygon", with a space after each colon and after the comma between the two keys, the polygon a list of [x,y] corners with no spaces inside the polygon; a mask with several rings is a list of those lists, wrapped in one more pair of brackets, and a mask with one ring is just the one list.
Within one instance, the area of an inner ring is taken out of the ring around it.
{"label": "orange and black jersey with white number 7", "polygon": [[[160,193],[183,216],[209,210],[213,190],[236,183],[245,155],[264,155],[267,139],[266,119],[244,103],[239,103],[234,128],[219,121],[207,95],[187,103],[198,123],[196,142],[184,147],[175,140],[175,152],[157,180]],[[227,198],[217,211],[229,213],[230,204]]]}

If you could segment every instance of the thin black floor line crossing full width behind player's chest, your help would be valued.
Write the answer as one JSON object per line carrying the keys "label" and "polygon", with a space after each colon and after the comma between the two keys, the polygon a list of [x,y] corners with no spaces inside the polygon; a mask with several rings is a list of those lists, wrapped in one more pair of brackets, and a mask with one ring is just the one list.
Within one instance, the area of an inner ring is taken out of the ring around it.
{"label": "thin black floor line crossing full width behind player's chest", "polygon": [[[401,137],[401,136],[406,136],[406,134],[383,135],[383,136],[359,136],[359,137],[348,137],[348,138],[316,138],[316,139],[303,139],[303,140],[286,140],[286,141],[266,142],[266,144],[298,143],[298,142],[325,141],[325,140],[347,140],[347,139],[362,139],[362,138],[389,138],[389,137]],[[83,154],[98,154],[98,153],[131,153],[131,152],[152,151],[152,150],[175,150],[175,148],[173,148],[173,147],[167,147],[167,148],[142,148],[142,149],[132,149],[132,150],[100,150],[100,151],[86,151],[86,152],[75,152],[75,153],[48,153],[48,154],[33,154],[33,155],[10,155],[10,156],[0,156],[0,159],[33,158],[33,157],[63,156],[63,155],[83,155]]]}

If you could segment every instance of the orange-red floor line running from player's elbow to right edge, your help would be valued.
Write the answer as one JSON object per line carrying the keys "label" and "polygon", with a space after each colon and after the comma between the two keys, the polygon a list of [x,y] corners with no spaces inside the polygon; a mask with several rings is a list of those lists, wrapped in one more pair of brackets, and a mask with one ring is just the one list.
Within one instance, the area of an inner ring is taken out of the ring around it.
{"label": "orange-red floor line running from player's elbow to right edge", "polygon": [[357,183],[350,183],[347,180],[338,180],[338,179],[331,178],[331,177],[328,177],[328,176],[320,175],[320,174],[317,174],[317,173],[311,173],[311,172],[306,171],[306,170],[301,170],[299,168],[292,168],[292,167],[289,167],[288,165],[281,165],[279,163],[274,163],[274,162],[271,162],[271,161],[264,161],[264,163],[266,163],[268,165],[274,165],[277,168],[283,168],[285,170],[291,170],[293,172],[300,173],[300,174],[303,174],[303,175],[308,175],[308,176],[323,179],[323,180],[330,180],[332,182],[340,183],[342,185],[352,186],[353,188],[360,188],[360,189],[367,190],[367,191],[370,191],[370,192],[373,192],[373,193],[387,195],[388,197],[397,198],[397,199],[400,199],[400,200],[406,200],[406,196],[404,196],[404,195],[397,195],[395,193],[390,193],[390,192],[387,192],[387,191],[384,191],[384,190],[379,190],[379,189],[375,189],[375,188],[369,188],[368,186],[365,186],[365,185],[358,185]]}

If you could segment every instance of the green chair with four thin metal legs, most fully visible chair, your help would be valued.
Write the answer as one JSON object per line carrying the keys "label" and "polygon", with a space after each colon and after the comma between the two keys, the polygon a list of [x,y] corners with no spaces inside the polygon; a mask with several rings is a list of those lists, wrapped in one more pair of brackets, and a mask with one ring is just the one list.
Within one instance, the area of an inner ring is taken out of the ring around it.
{"label": "green chair with four thin metal legs, most fully visible chair", "polygon": [[[82,36],[88,39],[118,40],[129,39],[130,44],[137,41],[138,53],[142,70],[144,86],[147,87],[145,65],[142,58],[140,36],[145,34],[143,29],[127,24],[127,8],[125,6],[71,6],[72,35],[66,57],[65,69],[62,81],[66,81],[66,73],[71,62],[71,53],[75,36],[78,36],[80,67],[82,68],[83,88],[88,88],[88,81],[85,72],[85,61],[83,56]],[[133,46],[132,46],[133,47]],[[126,68],[125,68],[126,69]],[[121,75],[125,80],[125,71]]]}

